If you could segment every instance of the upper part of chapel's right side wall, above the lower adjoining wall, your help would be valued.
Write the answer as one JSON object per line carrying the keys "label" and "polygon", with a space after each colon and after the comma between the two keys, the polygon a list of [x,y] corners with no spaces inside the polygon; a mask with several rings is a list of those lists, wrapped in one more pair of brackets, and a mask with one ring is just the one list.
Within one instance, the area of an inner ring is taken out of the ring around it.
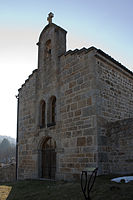
{"label": "upper part of chapel's right side wall, above the lower adjoining wall", "polygon": [[108,121],[133,117],[133,74],[107,59],[97,59],[98,115]]}

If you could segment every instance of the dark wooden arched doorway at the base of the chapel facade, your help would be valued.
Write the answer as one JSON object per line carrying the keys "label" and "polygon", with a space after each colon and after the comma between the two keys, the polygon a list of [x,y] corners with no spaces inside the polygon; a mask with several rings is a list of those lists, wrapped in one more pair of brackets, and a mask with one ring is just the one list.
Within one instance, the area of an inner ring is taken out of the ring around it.
{"label": "dark wooden arched doorway at the base of the chapel facade", "polygon": [[56,142],[48,137],[42,144],[42,178],[55,179]]}

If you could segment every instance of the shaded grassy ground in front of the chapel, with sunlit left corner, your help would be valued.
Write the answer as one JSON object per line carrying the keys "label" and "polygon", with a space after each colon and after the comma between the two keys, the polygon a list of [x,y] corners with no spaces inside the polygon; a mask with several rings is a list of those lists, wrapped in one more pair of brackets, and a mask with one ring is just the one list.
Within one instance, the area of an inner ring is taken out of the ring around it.
{"label": "shaded grassy ground in front of the chapel, with sunlit left corner", "polygon": [[[92,200],[133,200],[133,181],[114,183],[99,176],[91,192]],[[0,200],[84,200],[80,183],[18,181],[0,184]]]}

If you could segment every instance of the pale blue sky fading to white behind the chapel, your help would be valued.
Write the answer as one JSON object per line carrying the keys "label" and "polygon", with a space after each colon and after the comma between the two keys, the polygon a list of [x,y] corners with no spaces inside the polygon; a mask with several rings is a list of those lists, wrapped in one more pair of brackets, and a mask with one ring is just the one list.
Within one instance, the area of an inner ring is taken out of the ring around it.
{"label": "pale blue sky fading to white behind the chapel", "polygon": [[133,0],[0,0],[0,135],[16,137],[15,96],[38,67],[49,12],[67,31],[67,50],[95,46],[133,71]]}

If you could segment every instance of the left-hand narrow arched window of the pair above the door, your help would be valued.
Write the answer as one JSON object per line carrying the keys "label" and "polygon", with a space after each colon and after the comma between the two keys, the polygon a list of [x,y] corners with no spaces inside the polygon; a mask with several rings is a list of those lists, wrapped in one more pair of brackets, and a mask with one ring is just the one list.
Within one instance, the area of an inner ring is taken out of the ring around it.
{"label": "left-hand narrow arched window of the pair above the door", "polygon": [[40,103],[40,128],[44,128],[45,127],[45,101],[42,100]]}

